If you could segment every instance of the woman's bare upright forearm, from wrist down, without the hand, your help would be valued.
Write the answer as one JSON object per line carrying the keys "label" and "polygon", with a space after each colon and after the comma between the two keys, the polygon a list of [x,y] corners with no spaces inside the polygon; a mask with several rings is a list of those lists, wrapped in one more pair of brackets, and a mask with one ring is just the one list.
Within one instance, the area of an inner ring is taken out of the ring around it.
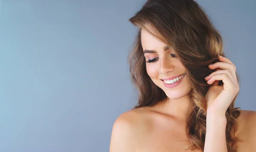
{"label": "woman's bare upright forearm, from wrist down, without the hand", "polygon": [[225,114],[207,111],[204,152],[227,152],[226,124]]}

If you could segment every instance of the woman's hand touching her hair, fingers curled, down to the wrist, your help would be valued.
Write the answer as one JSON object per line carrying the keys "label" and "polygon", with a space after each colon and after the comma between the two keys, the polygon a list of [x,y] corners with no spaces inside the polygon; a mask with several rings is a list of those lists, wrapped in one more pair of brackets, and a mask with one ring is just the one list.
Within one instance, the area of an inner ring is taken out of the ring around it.
{"label": "woman's hand touching her hair, fingers curled, down to the wrist", "polygon": [[[209,65],[210,69],[216,69],[205,78],[208,84],[212,84],[205,96],[207,112],[224,114],[231,102],[239,92],[239,84],[236,78],[236,66],[227,58],[219,56],[219,61]],[[223,84],[218,85],[222,80]]]}

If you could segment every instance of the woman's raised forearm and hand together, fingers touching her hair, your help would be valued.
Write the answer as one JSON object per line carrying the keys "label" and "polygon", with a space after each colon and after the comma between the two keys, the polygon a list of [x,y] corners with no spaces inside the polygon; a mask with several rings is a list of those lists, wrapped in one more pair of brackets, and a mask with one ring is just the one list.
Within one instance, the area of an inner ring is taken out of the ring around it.
{"label": "woman's raised forearm and hand together, fingers touching her hair", "polygon": [[[205,95],[207,102],[206,137],[204,152],[227,152],[225,113],[239,93],[236,66],[226,57],[218,56],[220,62],[209,65],[216,69],[205,77],[211,84]],[[218,85],[222,81],[223,84]]]}

